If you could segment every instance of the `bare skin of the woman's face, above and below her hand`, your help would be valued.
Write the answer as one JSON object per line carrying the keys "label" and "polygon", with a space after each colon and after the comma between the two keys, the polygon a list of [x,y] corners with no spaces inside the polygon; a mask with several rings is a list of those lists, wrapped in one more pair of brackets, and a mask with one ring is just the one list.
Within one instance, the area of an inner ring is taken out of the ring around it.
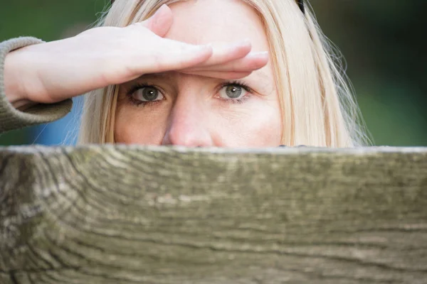
{"label": "bare skin of the woman's face, above and below her hand", "polygon": [[[145,74],[121,84],[115,141],[189,147],[280,145],[283,125],[278,92],[271,63],[260,60],[265,53],[256,53],[269,48],[255,11],[237,0],[183,1],[169,8],[173,24],[164,38],[214,46],[248,40],[258,61],[248,63],[246,57],[246,62],[222,63],[216,70],[212,70],[214,63],[208,63]],[[228,76],[219,75],[221,68]],[[236,85],[233,77],[241,78],[239,83],[250,89]],[[237,98],[229,97],[240,92]],[[144,102],[147,94],[152,94],[151,102]]]}

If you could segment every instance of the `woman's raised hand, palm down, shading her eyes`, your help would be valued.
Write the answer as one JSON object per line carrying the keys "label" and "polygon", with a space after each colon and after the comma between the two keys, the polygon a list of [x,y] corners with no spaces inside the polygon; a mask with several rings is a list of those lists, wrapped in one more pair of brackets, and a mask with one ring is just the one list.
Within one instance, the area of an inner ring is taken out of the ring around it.
{"label": "woman's raised hand, palm down, shading her eyes", "polygon": [[73,38],[9,53],[5,91],[12,104],[53,103],[141,75],[169,70],[233,79],[268,61],[251,43],[191,45],[163,38],[172,26],[166,5],[146,21],[125,28],[93,28]]}

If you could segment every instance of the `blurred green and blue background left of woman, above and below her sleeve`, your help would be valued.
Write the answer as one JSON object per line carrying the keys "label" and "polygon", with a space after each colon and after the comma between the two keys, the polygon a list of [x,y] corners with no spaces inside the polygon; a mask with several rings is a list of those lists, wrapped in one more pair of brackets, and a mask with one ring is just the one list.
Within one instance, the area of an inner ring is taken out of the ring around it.
{"label": "blurred green and blue background left of woman, above and below her sleeve", "polygon": [[[76,35],[90,28],[109,3],[110,0],[0,0],[0,41],[21,35],[46,41]],[[0,136],[0,145],[37,142],[40,134],[46,133],[43,129],[9,131]]]}

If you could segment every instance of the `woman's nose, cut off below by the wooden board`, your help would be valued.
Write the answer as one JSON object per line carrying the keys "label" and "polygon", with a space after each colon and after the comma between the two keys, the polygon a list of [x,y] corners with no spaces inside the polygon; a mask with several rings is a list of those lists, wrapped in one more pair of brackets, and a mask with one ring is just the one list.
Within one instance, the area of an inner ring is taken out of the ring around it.
{"label": "woman's nose, cut off below by the wooden board", "polygon": [[169,116],[162,145],[214,146],[209,131],[209,119],[206,113],[202,113],[202,108],[194,104],[181,106],[176,104]]}

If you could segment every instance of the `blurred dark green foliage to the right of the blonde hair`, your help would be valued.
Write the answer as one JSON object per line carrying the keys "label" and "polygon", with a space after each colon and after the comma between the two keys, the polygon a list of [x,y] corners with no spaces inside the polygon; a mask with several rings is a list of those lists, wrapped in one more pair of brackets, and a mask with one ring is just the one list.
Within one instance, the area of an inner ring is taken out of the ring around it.
{"label": "blurred dark green foliage to the right of the blonde hair", "polygon": [[376,145],[427,146],[426,0],[311,0]]}

